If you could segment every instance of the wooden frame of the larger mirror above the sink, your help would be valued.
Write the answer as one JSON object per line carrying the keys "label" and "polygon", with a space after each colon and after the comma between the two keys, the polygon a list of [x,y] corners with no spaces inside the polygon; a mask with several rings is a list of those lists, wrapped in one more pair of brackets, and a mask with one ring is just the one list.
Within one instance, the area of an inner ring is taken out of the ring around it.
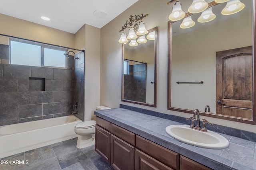
{"label": "wooden frame of the larger mirror above the sink", "polygon": [[[218,3],[216,2],[210,2],[208,3],[208,8],[217,5]],[[255,18],[256,18],[256,13],[255,13],[255,9],[256,9],[256,4],[255,4],[255,0],[253,0],[253,76],[252,76],[252,119],[243,119],[240,117],[232,117],[232,116],[227,116],[227,115],[220,115],[220,114],[213,114],[213,113],[206,113],[206,112],[202,112],[200,111],[200,115],[203,116],[208,116],[208,117],[214,117],[214,118],[218,118],[218,119],[224,119],[224,120],[229,120],[229,121],[236,121],[236,122],[240,122],[240,123],[248,123],[248,124],[252,124],[252,125],[256,125],[256,60],[255,60],[255,54],[256,54],[256,48],[255,48],[255,38],[256,38],[256,23],[255,23]],[[187,16],[191,16],[192,14],[190,13],[186,13],[185,17]],[[167,98],[167,102],[168,102],[168,110],[172,110],[172,111],[179,111],[179,112],[183,112],[183,113],[191,113],[193,114],[194,110],[190,110],[190,109],[182,109],[182,108],[177,108],[177,107],[172,107],[171,106],[171,76],[172,76],[172,23],[174,23],[175,21],[168,21],[168,98]]]}

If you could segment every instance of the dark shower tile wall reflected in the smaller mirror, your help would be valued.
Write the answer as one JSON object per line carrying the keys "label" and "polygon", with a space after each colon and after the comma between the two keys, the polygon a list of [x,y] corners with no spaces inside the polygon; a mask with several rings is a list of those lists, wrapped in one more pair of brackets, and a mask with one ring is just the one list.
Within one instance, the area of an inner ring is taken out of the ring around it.
{"label": "dark shower tile wall reflected in the smaller mirror", "polygon": [[124,74],[124,99],[146,102],[146,64],[129,65],[129,74]]}

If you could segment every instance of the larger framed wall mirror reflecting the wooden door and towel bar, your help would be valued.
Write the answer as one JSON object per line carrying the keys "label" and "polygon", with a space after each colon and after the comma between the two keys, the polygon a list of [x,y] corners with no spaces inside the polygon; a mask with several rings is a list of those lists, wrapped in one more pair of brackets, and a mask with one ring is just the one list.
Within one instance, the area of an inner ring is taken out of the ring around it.
{"label": "larger framed wall mirror reflecting the wooden door and towel bar", "polygon": [[168,109],[256,124],[255,2],[241,2],[242,11],[225,16],[226,3],[210,2],[216,18],[206,23],[187,13],[196,23],[187,29],[169,21]]}

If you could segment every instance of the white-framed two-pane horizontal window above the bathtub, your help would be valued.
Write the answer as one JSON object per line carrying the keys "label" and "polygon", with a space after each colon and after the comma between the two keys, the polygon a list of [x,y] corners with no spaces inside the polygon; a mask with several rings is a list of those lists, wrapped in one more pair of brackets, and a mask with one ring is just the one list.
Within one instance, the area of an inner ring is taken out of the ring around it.
{"label": "white-framed two-pane horizontal window above the bathtub", "polygon": [[10,64],[68,68],[67,49],[28,41],[10,40]]}

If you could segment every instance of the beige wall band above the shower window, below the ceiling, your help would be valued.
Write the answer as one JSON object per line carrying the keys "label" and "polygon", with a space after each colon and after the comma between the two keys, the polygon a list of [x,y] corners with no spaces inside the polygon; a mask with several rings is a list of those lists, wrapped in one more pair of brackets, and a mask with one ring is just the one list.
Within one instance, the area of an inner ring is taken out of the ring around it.
{"label": "beige wall band above the shower window, below the ceiling", "polygon": [[[74,48],[74,34],[0,14],[0,33],[24,39]],[[9,44],[8,37],[0,36],[1,44]]]}

